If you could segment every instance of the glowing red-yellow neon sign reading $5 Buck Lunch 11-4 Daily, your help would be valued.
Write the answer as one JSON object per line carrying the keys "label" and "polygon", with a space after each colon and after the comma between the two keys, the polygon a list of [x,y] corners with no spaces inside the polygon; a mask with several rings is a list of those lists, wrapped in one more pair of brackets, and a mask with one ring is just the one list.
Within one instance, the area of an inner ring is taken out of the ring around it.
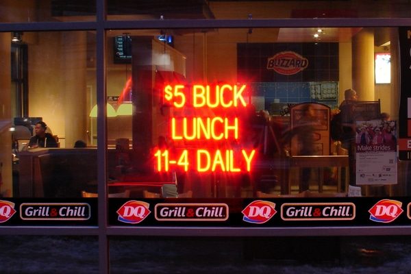
{"label": "glowing red-yellow neon sign reading $5 Buck Lunch 11-4 Daily", "polygon": [[[246,85],[229,84],[165,86],[163,100],[177,110],[190,107],[212,110],[212,114],[172,116],[169,121],[171,139],[184,142],[190,149],[155,149],[155,169],[160,172],[172,169],[200,173],[250,172],[256,150],[238,145],[241,121],[235,111],[247,107],[246,88]],[[196,148],[192,148],[192,142],[197,142]]]}

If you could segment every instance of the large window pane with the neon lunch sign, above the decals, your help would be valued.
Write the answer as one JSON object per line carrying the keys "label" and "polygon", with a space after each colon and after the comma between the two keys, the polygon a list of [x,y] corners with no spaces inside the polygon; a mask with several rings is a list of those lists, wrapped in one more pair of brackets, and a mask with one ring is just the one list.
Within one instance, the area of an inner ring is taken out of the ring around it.
{"label": "large window pane with the neon lunch sign, above the decals", "polygon": [[108,117],[109,192],[407,195],[397,162],[399,94],[374,81],[375,52],[396,53],[386,44],[396,31],[109,32],[108,104],[116,110]]}

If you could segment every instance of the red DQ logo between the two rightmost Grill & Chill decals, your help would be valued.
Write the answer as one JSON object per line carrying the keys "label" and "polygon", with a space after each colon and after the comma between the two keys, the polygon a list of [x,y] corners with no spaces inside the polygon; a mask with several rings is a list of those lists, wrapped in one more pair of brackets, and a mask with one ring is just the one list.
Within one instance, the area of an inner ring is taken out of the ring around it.
{"label": "red DQ logo between the two rightmost Grill & Chill decals", "polygon": [[241,212],[244,214],[242,221],[248,223],[266,223],[277,213],[275,203],[271,201],[253,201]]}

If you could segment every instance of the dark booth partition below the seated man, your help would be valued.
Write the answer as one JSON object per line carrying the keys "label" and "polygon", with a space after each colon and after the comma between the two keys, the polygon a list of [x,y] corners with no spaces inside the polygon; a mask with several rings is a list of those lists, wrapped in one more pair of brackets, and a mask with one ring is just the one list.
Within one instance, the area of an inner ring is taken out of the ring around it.
{"label": "dark booth partition below the seated man", "polygon": [[[116,150],[108,151],[108,173],[116,171]],[[82,197],[97,188],[97,149],[32,149],[18,164],[20,197]]]}

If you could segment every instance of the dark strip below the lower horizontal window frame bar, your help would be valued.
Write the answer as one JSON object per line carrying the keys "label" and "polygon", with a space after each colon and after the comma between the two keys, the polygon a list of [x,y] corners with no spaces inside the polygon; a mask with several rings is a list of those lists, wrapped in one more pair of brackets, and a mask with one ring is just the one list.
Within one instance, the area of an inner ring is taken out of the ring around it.
{"label": "dark strip below the lower horizontal window frame bar", "polygon": [[[405,274],[408,238],[114,237],[110,267],[121,274]],[[91,236],[1,236],[0,258],[0,273],[99,273],[97,237]]]}

